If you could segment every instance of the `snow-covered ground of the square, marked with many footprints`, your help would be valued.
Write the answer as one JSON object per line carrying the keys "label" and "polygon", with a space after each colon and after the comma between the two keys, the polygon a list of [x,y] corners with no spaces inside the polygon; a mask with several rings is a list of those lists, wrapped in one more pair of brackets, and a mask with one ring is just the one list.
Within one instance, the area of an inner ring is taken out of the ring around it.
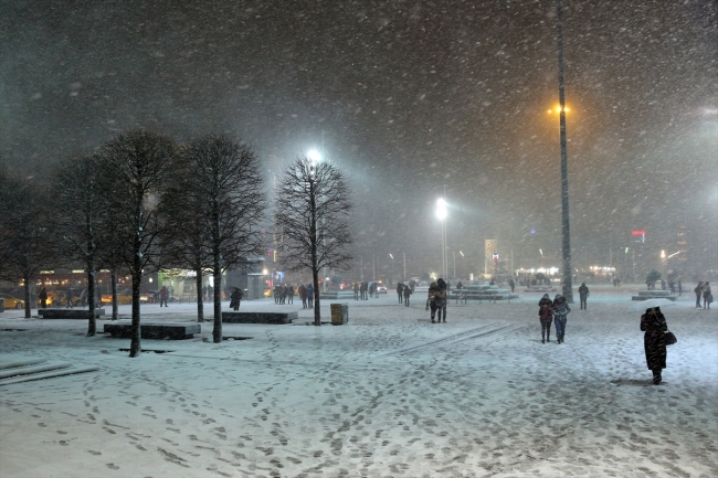
{"label": "snow-covered ground of the square, marked with many footprints", "polygon": [[[663,309],[678,343],[656,386],[640,314],[625,314],[637,288],[592,286],[563,344],[541,343],[540,296],[521,288],[510,304],[452,302],[441,325],[423,295],[406,308],[394,294],[349,300],[341,327],[224,325],[251,339],[214,344],[207,322],[192,340],[144,340],[135,359],[129,340],[84,337],[85,321],[6,311],[3,362],[99,371],[0,387],[1,476],[715,478],[718,311],[693,294]],[[296,298],[242,310],[312,320]]]}

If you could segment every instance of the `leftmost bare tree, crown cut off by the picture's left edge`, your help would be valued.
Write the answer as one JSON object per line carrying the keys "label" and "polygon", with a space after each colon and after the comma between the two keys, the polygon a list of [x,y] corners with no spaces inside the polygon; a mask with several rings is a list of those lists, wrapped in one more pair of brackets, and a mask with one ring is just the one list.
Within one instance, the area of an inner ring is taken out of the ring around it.
{"label": "leftmost bare tree, crown cut off by the picture's left edge", "polygon": [[40,270],[56,259],[52,247],[53,227],[47,189],[33,179],[12,178],[0,172],[0,278],[24,287],[25,319],[31,317],[31,287]]}

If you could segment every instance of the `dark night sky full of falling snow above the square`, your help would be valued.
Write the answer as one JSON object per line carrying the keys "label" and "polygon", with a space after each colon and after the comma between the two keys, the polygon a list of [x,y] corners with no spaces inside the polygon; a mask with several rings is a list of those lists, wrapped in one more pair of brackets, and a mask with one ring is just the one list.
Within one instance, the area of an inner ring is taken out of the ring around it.
{"label": "dark night sky full of falling snow above the square", "polygon": [[[651,254],[671,251],[686,225],[693,263],[718,268],[716,2],[563,3],[573,265],[606,264],[632,229]],[[496,237],[517,265],[538,265],[538,247],[558,265],[555,12],[548,0],[2,2],[1,159],[42,176],[144,126],[178,141],[229,132],[270,174],[324,132],[350,174],[365,261],[406,252],[439,269],[445,188],[452,248],[475,261]]]}

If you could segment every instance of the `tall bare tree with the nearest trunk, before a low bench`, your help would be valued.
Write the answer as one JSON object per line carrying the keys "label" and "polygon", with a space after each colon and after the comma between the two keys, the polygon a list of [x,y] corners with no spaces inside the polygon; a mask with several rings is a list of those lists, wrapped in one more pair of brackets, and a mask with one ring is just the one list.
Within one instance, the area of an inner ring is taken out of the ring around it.
{"label": "tall bare tree with the nearest trunk, before a low bench", "polygon": [[103,206],[108,211],[113,237],[108,246],[133,279],[133,329],[129,357],[141,352],[140,284],[142,269],[159,267],[165,193],[175,181],[177,149],[172,140],[134,130],[110,140],[102,151],[105,184]]}

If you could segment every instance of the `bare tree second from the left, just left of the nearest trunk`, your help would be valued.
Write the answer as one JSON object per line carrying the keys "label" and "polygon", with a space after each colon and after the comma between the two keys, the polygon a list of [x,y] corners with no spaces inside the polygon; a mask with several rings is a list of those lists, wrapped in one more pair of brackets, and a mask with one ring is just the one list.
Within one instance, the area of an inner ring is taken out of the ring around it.
{"label": "bare tree second from the left, just left of the nearest trunk", "polygon": [[107,226],[102,206],[103,184],[97,157],[67,158],[53,173],[53,209],[63,257],[83,264],[87,273],[89,318],[87,337],[96,333],[95,273],[101,257],[103,230]]}

